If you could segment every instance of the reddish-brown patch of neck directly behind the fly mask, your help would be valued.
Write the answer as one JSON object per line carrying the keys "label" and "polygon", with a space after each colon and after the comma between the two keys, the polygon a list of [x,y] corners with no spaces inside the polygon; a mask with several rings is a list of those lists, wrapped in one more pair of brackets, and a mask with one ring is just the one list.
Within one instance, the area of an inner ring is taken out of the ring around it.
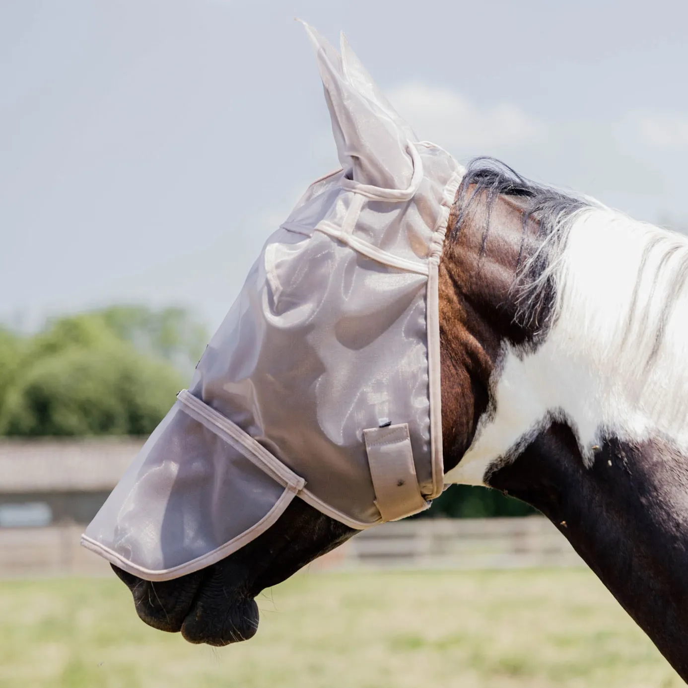
{"label": "reddish-brown patch of neck directly behind the fly mask", "polygon": [[537,337],[535,325],[517,319],[513,284],[524,242],[533,252],[540,241],[537,223],[524,228],[522,206],[503,196],[488,202],[483,195],[467,213],[458,202],[449,228],[439,281],[445,472],[464,456],[493,406],[505,346],[528,346]]}

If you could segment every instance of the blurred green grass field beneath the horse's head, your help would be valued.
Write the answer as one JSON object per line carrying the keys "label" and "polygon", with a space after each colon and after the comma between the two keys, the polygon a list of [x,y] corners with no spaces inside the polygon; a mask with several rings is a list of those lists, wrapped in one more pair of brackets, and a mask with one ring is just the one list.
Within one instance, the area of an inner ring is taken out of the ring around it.
{"label": "blurred green grass field beneath the horse's head", "polygon": [[114,579],[0,582],[0,687],[683,685],[585,570],[300,574],[224,649],[145,626]]}

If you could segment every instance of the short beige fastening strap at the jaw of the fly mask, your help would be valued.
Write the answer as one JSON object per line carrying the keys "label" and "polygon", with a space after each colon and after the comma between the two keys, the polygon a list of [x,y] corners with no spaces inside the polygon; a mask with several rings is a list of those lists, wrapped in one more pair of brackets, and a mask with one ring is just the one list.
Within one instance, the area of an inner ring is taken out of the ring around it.
{"label": "short beige fastening strap at the jaw of the fly mask", "polygon": [[385,521],[409,516],[429,506],[418,487],[409,425],[402,423],[363,431],[375,506]]}

